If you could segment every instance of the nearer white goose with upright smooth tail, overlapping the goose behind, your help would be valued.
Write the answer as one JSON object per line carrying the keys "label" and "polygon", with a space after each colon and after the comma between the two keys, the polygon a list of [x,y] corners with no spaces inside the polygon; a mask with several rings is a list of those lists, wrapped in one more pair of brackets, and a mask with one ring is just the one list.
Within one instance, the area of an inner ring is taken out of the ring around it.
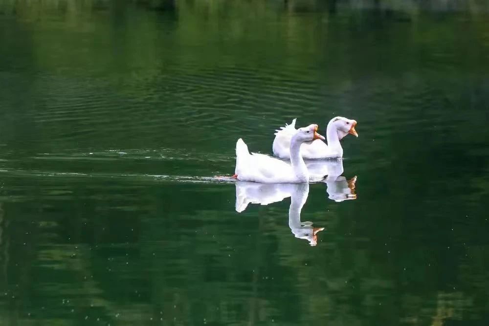
{"label": "nearer white goose with upright smooth tail, overlapping the goose behind", "polygon": [[314,139],[324,139],[317,133],[317,125],[299,128],[289,139],[290,165],[279,159],[252,153],[243,139],[236,143],[236,170],[234,177],[242,181],[260,183],[309,182],[309,172],[301,155],[301,144]]}

